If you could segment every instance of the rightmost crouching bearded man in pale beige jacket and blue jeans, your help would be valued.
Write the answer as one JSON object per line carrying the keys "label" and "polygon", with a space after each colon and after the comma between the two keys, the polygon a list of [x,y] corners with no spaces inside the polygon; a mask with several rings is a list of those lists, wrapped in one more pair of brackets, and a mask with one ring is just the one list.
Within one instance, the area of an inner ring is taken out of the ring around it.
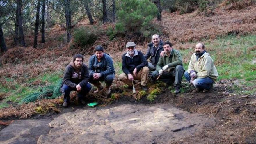
{"label": "rightmost crouching bearded man in pale beige jacket and blue jeans", "polygon": [[195,46],[195,53],[191,56],[188,70],[184,74],[187,81],[193,83],[193,92],[211,91],[213,83],[218,78],[218,72],[210,54],[205,51],[205,46],[198,43]]}

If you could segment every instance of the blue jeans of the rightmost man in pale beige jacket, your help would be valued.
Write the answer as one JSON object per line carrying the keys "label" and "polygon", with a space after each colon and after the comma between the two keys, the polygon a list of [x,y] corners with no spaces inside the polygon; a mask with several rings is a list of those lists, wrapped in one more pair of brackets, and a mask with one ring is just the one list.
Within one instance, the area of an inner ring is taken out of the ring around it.
{"label": "blue jeans of the rightmost man in pale beige jacket", "polygon": [[[188,73],[188,71],[186,71],[184,73],[184,77],[187,79],[187,81],[190,82],[190,74]],[[209,78],[209,77],[206,77],[206,78],[197,78],[193,81],[193,85],[195,86],[195,88],[199,88],[199,89],[207,89],[209,90],[211,85],[214,83],[214,81]]]}

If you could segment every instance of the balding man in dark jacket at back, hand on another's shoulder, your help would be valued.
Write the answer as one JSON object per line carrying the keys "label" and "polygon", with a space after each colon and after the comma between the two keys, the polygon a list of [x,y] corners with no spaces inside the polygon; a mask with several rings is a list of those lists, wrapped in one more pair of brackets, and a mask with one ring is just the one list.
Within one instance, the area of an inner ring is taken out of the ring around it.
{"label": "balding man in dark jacket at back, hand on another's shoulder", "polygon": [[160,53],[163,51],[163,41],[160,40],[159,35],[152,36],[152,42],[147,46],[147,53],[144,55],[146,59],[150,58],[148,68],[150,71],[156,70],[156,65],[160,57]]}

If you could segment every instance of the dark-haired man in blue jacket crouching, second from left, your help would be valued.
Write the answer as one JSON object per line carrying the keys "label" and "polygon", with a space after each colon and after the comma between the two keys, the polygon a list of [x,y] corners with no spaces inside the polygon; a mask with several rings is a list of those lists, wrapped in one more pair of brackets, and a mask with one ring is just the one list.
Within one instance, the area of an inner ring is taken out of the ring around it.
{"label": "dark-haired man in blue jacket crouching, second from left", "polygon": [[115,78],[115,69],[112,58],[104,53],[102,46],[98,45],[94,49],[95,54],[89,60],[89,82],[97,87],[94,93],[99,93],[103,89],[99,81],[105,81],[106,94],[110,94],[110,86]]}

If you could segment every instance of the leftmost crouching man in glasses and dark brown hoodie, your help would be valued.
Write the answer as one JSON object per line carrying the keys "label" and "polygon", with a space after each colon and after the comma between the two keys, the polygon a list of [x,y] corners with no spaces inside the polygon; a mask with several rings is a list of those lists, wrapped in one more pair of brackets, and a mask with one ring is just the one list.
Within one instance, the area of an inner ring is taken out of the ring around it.
{"label": "leftmost crouching man in glasses and dark brown hoodie", "polygon": [[83,63],[83,56],[76,54],[73,61],[67,65],[63,76],[61,86],[61,91],[64,94],[63,107],[67,107],[69,104],[69,94],[73,90],[78,92],[78,100],[84,104],[83,98],[92,88],[88,81],[89,72],[87,66]]}

